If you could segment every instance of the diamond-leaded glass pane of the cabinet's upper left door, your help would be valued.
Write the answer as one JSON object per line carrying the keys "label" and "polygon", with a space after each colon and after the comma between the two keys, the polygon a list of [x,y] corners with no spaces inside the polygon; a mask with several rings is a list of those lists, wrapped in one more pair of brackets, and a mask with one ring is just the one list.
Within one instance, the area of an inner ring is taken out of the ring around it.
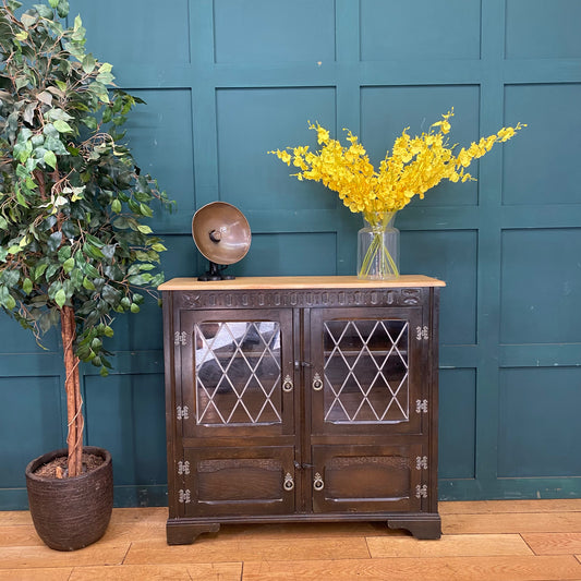
{"label": "diamond-leaded glass pane of the cabinet's upper left door", "polygon": [[194,337],[198,424],[282,422],[278,323],[204,322]]}

